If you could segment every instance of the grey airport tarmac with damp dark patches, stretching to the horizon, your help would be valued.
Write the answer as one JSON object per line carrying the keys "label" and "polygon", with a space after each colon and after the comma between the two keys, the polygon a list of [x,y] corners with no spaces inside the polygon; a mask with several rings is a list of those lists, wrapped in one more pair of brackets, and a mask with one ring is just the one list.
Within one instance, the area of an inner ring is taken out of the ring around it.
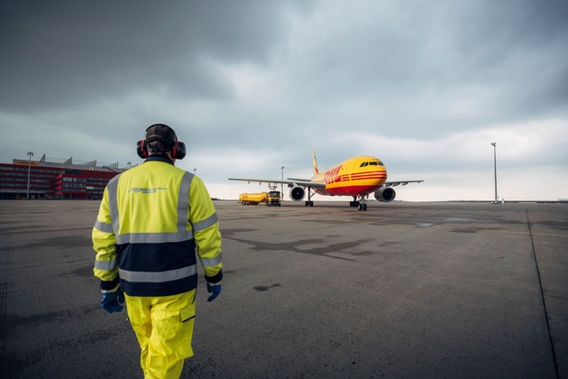
{"label": "grey airport tarmac with damp dark patches, stretching to the horizon", "polygon": [[[568,378],[568,205],[215,201],[224,282],[182,377]],[[0,201],[0,375],[140,378],[98,201]],[[202,273],[202,271],[200,271]]]}

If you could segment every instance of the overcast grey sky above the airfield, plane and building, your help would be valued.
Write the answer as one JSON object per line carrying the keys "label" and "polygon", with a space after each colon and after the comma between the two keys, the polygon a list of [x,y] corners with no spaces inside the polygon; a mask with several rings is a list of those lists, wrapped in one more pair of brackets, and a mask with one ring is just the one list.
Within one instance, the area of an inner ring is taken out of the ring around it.
{"label": "overcast grey sky above the airfield, plane and building", "polygon": [[499,198],[566,199],[566,20],[565,0],[0,0],[0,162],[140,163],[165,123],[217,198],[310,178],[316,151],[426,180],[398,199],[493,199],[496,142]]}

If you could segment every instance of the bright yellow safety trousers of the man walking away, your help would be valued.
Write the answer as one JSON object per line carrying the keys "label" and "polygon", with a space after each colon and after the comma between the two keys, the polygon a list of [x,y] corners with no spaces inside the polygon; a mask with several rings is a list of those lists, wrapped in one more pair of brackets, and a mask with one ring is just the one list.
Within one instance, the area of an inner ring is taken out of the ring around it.
{"label": "bright yellow safety trousers of the man walking away", "polygon": [[124,294],[124,298],[141,347],[144,378],[179,378],[184,359],[193,356],[196,290],[161,297]]}

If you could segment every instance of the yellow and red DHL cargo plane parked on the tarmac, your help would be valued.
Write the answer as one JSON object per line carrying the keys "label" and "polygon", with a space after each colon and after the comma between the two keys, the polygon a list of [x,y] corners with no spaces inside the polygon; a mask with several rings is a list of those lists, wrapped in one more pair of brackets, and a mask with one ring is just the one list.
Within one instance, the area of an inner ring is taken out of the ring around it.
{"label": "yellow and red DHL cargo plane parked on the tarmac", "polygon": [[[259,183],[286,184],[290,188],[290,199],[302,201],[306,197],[306,207],[313,207],[313,194],[328,196],[351,196],[351,207],[367,210],[366,199],[374,193],[375,199],[389,202],[395,199],[393,187],[406,186],[408,183],[420,183],[424,180],[387,181],[387,169],[380,159],[369,155],[350,158],[329,170],[317,170],[316,153],[314,160],[314,176],[312,179],[264,180],[229,178],[229,180],[258,181]],[[312,193],[313,191],[313,193]]]}

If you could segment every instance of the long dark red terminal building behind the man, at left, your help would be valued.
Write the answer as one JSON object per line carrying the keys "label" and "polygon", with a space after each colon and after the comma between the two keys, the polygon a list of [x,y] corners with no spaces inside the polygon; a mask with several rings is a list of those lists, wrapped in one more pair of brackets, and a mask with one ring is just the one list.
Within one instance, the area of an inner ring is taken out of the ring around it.
{"label": "long dark red terminal building behind the man, at left", "polygon": [[0,163],[0,199],[102,199],[108,181],[132,167],[73,158],[48,162],[45,154],[40,161],[14,159]]}

